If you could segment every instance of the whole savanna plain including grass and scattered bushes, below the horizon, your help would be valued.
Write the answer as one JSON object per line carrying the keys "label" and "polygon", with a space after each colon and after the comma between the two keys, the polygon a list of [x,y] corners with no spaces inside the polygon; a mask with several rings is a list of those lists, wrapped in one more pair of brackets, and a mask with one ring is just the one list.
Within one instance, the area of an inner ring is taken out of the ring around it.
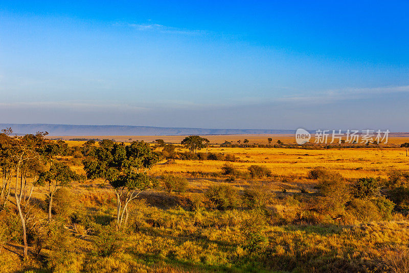
{"label": "whole savanna plain including grass and scattered bushes, below the horizon", "polygon": [[[35,184],[30,204],[25,194],[21,200],[26,258],[13,180],[1,213],[0,271],[409,272],[404,135],[352,147],[296,146],[284,135],[271,145],[264,135],[206,136],[210,143],[197,151],[180,144],[184,137],[44,140],[59,150],[38,177],[58,181],[41,176],[58,164],[75,176],[56,186],[51,206],[48,184],[26,176],[20,195]],[[225,140],[236,146],[220,145]],[[132,151],[146,154],[142,163]],[[118,167],[120,155],[126,164]],[[138,177],[124,171],[129,162],[139,164]],[[116,166],[127,180],[118,186],[101,166]],[[119,200],[122,186],[130,195]],[[118,202],[126,200],[122,221]]]}

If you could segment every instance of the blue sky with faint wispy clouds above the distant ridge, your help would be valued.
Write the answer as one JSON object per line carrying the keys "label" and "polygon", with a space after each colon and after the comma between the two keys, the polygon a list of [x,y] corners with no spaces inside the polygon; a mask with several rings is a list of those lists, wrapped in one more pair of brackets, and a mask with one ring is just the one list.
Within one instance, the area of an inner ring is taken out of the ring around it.
{"label": "blue sky with faint wispy clouds above the distant ridge", "polygon": [[409,131],[407,1],[2,1],[0,123]]}

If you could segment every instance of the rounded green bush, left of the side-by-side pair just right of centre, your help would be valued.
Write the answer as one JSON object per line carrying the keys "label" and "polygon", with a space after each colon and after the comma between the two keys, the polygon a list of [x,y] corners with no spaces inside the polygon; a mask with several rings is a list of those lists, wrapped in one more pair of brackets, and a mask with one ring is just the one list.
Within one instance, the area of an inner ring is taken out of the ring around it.
{"label": "rounded green bush, left of the side-by-side pair just right of centre", "polygon": [[234,208],[238,204],[237,190],[230,185],[212,185],[205,196],[216,208],[222,210]]}

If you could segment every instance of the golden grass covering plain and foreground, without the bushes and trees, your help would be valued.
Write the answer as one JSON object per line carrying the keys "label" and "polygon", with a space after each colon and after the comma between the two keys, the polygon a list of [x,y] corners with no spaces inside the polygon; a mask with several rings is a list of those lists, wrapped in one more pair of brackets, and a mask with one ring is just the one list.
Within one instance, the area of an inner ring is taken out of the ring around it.
{"label": "golden grass covering plain and foreground, without the bushes and trees", "polygon": [[[403,148],[399,148],[401,143],[408,142],[406,137],[409,135],[396,134],[390,138],[392,144],[379,148],[316,150],[224,148],[215,144],[244,138],[249,140],[249,144],[265,144],[266,138],[270,137],[267,135],[204,137],[211,141],[209,153],[232,154],[237,160],[174,160],[172,164],[162,160],[154,165],[149,170],[150,175],[159,178],[164,173],[172,173],[185,177],[188,179],[187,191],[167,193],[160,184],[158,188],[142,193],[134,204],[132,214],[132,221],[138,223],[138,228],[127,232],[123,242],[125,250],[108,257],[90,254],[97,249],[95,240],[98,237],[87,235],[84,229],[96,225],[103,230],[104,226],[108,226],[115,216],[115,195],[110,185],[102,179],[86,180],[73,182],[70,188],[75,195],[73,211],[79,215],[79,219],[85,220],[77,226],[71,225],[70,220],[64,222],[72,234],[69,244],[75,251],[65,254],[60,260],[41,258],[44,260],[21,262],[18,258],[21,245],[9,243],[5,247],[7,251],[0,254],[4,260],[0,260],[0,269],[5,272],[26,269],[31,269],[29,272],[407,272],[393,271],[408,265],[407,216],[394,213],[388,221],[347,219],[349,222],[341,222],[334,220],[336,217],[333,215],[310,211],[309,202],[315,198],[317,181],[307,176],[314,167],[325,167],[346,179],[388,178],[396,171],[409,172],[409,157],[405,156]],[[271,137],[273,142],[278,139],[284,143],[294,142],[291,135]],[[128,142],[129,138],[147,142],[161,138],[180,143],[184,136],[63,137],[71,138],[113,138]],[[84,143],[66,142],[70,146]],[[155,148],[155,151],[161,150]],[[187,151],[181,146],[176,148],[176,152]],[[206,148],[199,152],[206,153]],[[82,160],[77,159],[78,162]],[[60,157],[60,160],[68,162],[77,173],[84,174],[81,164],[70,161],[73,158]],[[243,173],[247,172],[248,166],[262,165],[271,171],[271,176],[228,181],[221,175],[221,168],[226,163]],[[266,183],[275,193],[265,215],[243,206],[227,211],[207,207],[187,208],[196,199],[202,202],[204,193],[212,185],[228,184],[242,196],[244,190],[257,181]],[[303,193],[301,189],[306,191]],[[46,187],[36,187],[33,198],[38,201],[39,207],[46,193]],[[312,224],[308,221],[312,221]],[[256,235],[264,238],[264,241],[257,242],[257,247],[262,250],[254,250],[254,253],[248,250],[248,228],[252,232],[256,230]],[[33,251],[31,246],[30,249]],[[42,251],[43,257],[52,254],[47,249]]]}

